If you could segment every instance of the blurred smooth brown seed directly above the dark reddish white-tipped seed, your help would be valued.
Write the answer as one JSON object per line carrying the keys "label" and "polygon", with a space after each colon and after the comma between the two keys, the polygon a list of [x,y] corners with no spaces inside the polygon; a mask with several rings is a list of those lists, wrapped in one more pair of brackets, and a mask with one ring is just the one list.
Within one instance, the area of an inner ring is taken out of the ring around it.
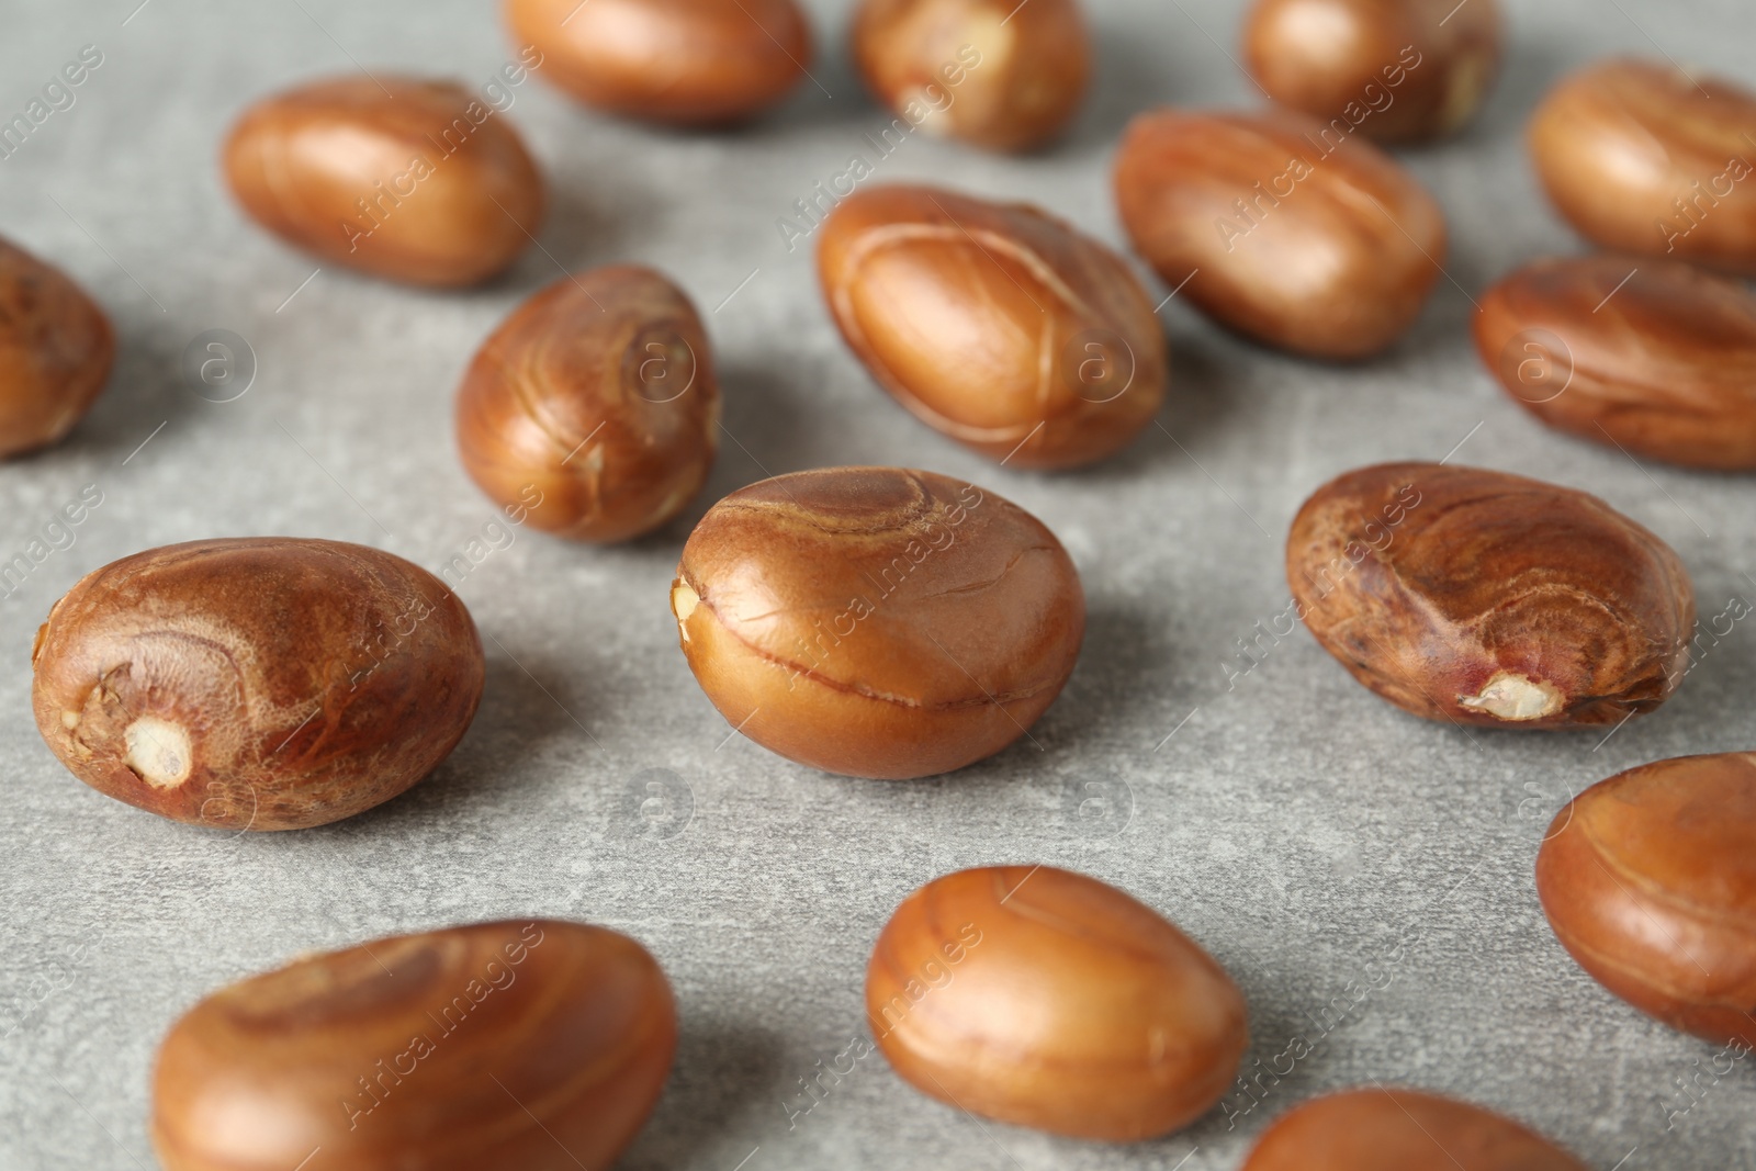
{"label": "blurred smooth brown seed directly above the dark reddish white-tipped seed", "polygon": [[1408,170],[1310,114],[1154,111],[1127,126],[1115,198],[1178,297],[1328,360],[1401,337],[1445,263],[1445,216]]}

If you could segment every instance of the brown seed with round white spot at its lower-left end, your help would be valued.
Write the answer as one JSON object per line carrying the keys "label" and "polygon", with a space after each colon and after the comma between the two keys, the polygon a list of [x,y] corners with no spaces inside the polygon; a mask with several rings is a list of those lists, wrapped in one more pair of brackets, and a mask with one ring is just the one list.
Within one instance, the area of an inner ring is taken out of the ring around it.
{"label": "brown seed with round white spot at its lower-left end", "polygon": [[86,574],[32,650],[37,730],[74,776],[211,829],[307,829],[407,790],[481,700],[469,611],[400,557],[228,537]]}

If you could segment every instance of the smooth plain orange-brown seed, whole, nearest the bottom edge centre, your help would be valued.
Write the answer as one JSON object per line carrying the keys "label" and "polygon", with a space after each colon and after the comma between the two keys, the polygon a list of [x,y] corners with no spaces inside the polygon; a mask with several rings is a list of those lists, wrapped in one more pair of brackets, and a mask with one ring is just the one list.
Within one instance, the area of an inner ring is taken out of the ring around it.
{"label": "smooth plain orange-brown seed, whole, nearest the bottom edge centre", "polygon": [[1199,945],[1052,866],[959,871],[904,899],[873,948],[866,1015],[922,1094],[1112,1143],[1206,1113],[1249,1045],[1243,995]]}

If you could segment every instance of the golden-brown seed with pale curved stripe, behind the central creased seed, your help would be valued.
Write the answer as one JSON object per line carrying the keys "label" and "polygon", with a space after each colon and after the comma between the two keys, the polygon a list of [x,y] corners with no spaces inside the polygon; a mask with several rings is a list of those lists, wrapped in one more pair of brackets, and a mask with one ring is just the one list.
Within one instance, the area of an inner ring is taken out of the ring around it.
{"label": "golden-brown seed with pale curved stripe, behind the central creased seed", "polygon": [[824,223],[853,355],[915,418],[1006,467],[1071,469],[1145,430],[1169,355],[1120,256],[1024,204],[878,186]]}

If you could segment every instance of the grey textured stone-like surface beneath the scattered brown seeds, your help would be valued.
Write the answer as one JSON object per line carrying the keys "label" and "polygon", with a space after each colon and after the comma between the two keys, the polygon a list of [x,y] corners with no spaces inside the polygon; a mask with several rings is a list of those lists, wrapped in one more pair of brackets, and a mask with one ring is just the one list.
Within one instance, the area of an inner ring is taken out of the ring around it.
{"label": "grey textured stone-like surface beneath the scattered brown seeds", "polygon": [[[774,219],[883,123],[845,61],[841,4],[813,4],[822,88],[739,133],[651,132],[523,84],[509,116],[555,193],[543,249],[488,288],[428,295],[330,267],[302,284],[316,263],[241,216],[216,149],[251,98],[355,61],[483,84],[513,54],[490,5],[151,0],[130,18],[135,2],[0,5],[5,116],[81,46],[104,53],[76,105],[0,160],[0,232],[76,276],[121,335],[74,437],[0,467],[4,557],[83,486],[104,493],[77,541],[0,600],[0,1167],[149,1166],[155,1045],[221,983],[304,950],[511,915],[615,925],[674,981],[676,1071],[627,1167],[1222,1171],[1280,1110],[1370,1080],[1508,1111],[1603,1171],[1756,1166],[1756,1067],[1703,1076],[1710,1092],[1666,1118],[1688,1104],[1675,1080],[1714,1046],[1586,978],[1531,883],[1570,792],[1659,757],[1751,748],[1756,627],[1740,623],[1666,708],[1607,743],[1414,720],[1305,632],[1241,678],[1222,667],[1243,665],[1234,639],[1285,607],[1282,539],[1312,488],[1465,439],[1459,462],[1594,492],[1654,528],[1695,574],[1703,616],[1756,599],[1749,479],[1642,469],[1542,430],[1466,332],[1466,290],[1579,248],[1524,162],[1536,97],[1589,58],[1656,54],[1647,33],[1749,84],[1756,16],[1740,0],[1512,4],[1486,116],[1407,154],[1452,230],[1452,279],[1419,327],[1338,369],[1241,344],[1171,302],[1166,430],[1054,478],[996,469],[917,425],[843,349],[808,249],[781,246]],[[1126,118],[1254,91],[1227,60],[1240,5],[1090,7],[1101,77],[1068,142],[1008,160],[917,137],[878,177],[1031,198],[1120,242],[1108,163]],[[522,532],[471,572],[460,593],[486,636],[488,693],[430,779],[328,829],[232,839],[100,797],[49,755],[30,718],[30,639],[81,574],[234,534],[360,541],[435,569],[479,535],[493,509],[451,439],[464,363],[557,265],[622,258],[718,307],[736,442],[688,514],[650,539],[590,550]],[[235,402],[204,402],[177,374],[209,328],[258,358]],[[1090,634],[1034,746],[932,781],[850,781],[729,736],[697,690],[666,607],[694,520],[766,472],[850,462],[971,478],[1071,550]],[[676,779],[643,804],[648,769]],[[864,962],[896,902],[1001,860],[1092,873],[1196,936],[1249,997],[1249,1060],[1299,1032],[1328,1029],[1322,1043],[1233,1125],[1215,1111],[1140,1146],[976,1124],[880,1057],[788,1120],[799,1078],[862,1031]],[[1331,1006],[1356,997],[1336,1020]]]}

